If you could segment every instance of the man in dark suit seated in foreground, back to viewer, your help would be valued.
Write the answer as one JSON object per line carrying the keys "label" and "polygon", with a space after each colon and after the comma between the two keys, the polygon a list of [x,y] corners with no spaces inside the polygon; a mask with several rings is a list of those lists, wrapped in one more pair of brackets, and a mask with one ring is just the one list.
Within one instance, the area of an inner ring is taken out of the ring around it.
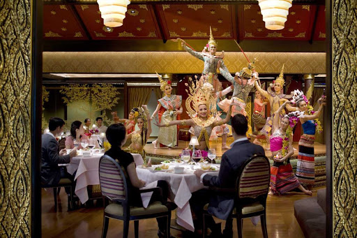
{"label": "man in dark suit seated in foreground, back to viewer", "polygon": [[[195,171],[196,176],[201,179],[205,186],[231,188],[233,190],[236,186],[238,171],[245,161],[255,154],[265,154],[263,147],[250,143],[246,137],[245,133],[248,131],[248,121],[242,114],[236,114],[231,119],[231,127],[234,142],[231,143],[231,149],[226,151],[222,156],[218,176],[205,173],[203,170]],[[196,193],[197,195],[195,195],[195,193],[192,194],[191,203],[196,207],[194,211],[198,213],[196,214],[198,215],[197,218],[202,218],[202,210],[199,212],[195,204],[204,205],[204,203],[206,203],[205,200],[207,200],[207,202],[209,201],[208,212],[222,220],[227,220],[231,211],[234,209],[234,193],[232,193],[232,195],[220,195],[212,194],[208,190],[197,191]],[[213,219],[211,219],[211,223],[212,222],[214,222]],[[233,235],[231,228],[232,221],[228,219],[225,231],[223,232],[225,237],[231,237]],[[220,233],[220,228],[217,230]]]}

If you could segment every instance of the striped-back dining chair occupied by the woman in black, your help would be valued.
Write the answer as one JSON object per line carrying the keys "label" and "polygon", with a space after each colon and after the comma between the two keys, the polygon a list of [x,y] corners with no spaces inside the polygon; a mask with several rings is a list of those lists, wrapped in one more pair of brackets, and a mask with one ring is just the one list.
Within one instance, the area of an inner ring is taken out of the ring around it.
{"label": "striped-back dining chair occupied by the woman in black", "polygon": [[[139,237],[139,220],[167,217],[167,237],[170,237],[171,210],[162,204],[153,202],[147,208],[132,207],[128,201],[128,185],[119,161],[104,155],[99,162],[100,189],[104,199],[102,238],[107,237],[109,218],[123,221],[123,237],[128,237],[129,222],[134,221],[135,238]],[[161,188],[140,190],[140,193],[158,191],[162,198]]]}

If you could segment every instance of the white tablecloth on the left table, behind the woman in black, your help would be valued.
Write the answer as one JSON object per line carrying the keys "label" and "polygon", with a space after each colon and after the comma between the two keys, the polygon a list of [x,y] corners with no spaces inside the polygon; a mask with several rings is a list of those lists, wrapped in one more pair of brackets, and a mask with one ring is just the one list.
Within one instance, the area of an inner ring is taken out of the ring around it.
{"label": "white tablecloth on the left table, behind the woman in black", "polygon": [[[103,154],[93,154],[92,156],[73,157],[67,166],[67,172],[75,174],[76,186],[75,194],[84,203],[88,200],[86,186],[99,184],[99,161]],[[132,154],[136,165],[144,163],[140,154]]]}

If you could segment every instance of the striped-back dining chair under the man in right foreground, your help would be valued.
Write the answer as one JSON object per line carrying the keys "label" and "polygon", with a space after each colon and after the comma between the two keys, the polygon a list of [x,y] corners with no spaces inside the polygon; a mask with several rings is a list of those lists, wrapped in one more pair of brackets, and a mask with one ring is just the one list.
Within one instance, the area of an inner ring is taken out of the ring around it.
{"label": "striped-back dining chair under the man in right foreground", "polygon": [[[234,209],[231,218],[237,219],[238,237],[242,238],[243,218],[260,216],[261,230],[263,237],[268,237],[266,230],[266,198],[270,184],[270,163],[263,155],[255,155],[245,161],[238,172],[236,189],[234,195]],[[215,188],[217,193],[229,193],[228,190]],[[227,192],[228,191],[228,192]],[[230,194],[232,194],[230,192]],[[208,213],[208,204],[204,206],[203,215],[203,237],[206,237],[205,216],[212,216]]]}

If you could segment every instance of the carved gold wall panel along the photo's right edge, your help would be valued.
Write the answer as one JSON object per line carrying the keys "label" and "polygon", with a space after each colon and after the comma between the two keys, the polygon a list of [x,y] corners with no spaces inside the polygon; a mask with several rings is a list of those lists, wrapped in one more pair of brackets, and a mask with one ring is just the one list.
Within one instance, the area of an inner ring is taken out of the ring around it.
{"label": "carved gold wall panel along the photo's right edge", "polygon": [[333,237],[357,237],[357,1],[333,6]]}

